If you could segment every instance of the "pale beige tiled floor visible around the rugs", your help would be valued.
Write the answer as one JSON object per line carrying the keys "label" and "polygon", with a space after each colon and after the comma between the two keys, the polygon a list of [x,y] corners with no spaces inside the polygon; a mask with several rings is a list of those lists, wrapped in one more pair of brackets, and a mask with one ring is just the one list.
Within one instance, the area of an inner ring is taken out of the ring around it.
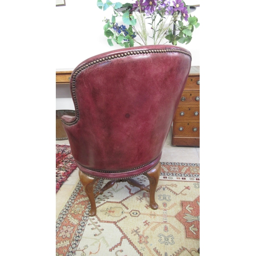
{"label": "pale beige tiled floor visible around the rugs", "polygon": [[[69,144],[68,140],[56,140],[56,144]],[[168,135],[161,157],[161,162],[199,163],[199,147],[172,146],[170,134]],[[78,169],[74,170],[68,180],[60,187],[56,194],[56,219],[67,203],[72,191],[79,181]]]}

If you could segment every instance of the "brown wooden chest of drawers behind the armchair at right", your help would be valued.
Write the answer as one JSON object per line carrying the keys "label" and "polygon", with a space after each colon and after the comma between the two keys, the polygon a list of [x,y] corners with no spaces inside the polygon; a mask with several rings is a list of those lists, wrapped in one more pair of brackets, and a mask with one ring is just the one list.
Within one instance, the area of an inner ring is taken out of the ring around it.
{"label": "brown wooden chest of drawers behind the armchair at right", "polygon": [[200,145],[200,67],[190,69],[172,127],[172,145]]}

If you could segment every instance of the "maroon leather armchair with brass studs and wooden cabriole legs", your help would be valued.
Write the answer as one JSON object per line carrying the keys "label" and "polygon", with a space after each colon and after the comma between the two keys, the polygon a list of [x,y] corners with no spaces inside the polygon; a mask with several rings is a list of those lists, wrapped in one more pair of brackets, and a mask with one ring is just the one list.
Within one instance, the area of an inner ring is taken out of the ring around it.
{"label": "maroon leather armchair with brass studs and wooden cabriole legs", "polygon": [[[190,52],[154,45],[114,50],[81,62],[70,89],[76,115],[62,116],[80,181],[96,214],[95,198],[118,181],[155,191],[160,158],[191,65]],[[145,175],[150,189],[132,177]],[[110,181],[93,194],[97,179]]]}

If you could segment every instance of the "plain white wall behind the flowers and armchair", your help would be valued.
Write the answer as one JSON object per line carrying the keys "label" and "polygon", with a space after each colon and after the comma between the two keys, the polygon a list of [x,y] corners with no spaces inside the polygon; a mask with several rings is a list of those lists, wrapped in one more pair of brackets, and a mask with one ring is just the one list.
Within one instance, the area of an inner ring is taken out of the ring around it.
{"label": "plain white wall behind the flowers and armchair", "polygon": [[[199,4],[199,0],[186,0],[185,3],[195,5]],[[97,0],[66,0],[66,6],[58,6],[55,9],[57,71],[73,70],[80,62],[91,56],[121,48],[118,45],[110,47],[103,34],[102,20],[104,17],[111,18],[112,8],[100,10],[97,7]],[[200,7],[192,15],[198,17],[200,23]],[[180,44],[191,52],[192,66],[200,66],[199,35],[200,27],[194,30],[193,39],[188,45]],[[68,85],[56,86],[56,110],[60,109],[74,110]]]}

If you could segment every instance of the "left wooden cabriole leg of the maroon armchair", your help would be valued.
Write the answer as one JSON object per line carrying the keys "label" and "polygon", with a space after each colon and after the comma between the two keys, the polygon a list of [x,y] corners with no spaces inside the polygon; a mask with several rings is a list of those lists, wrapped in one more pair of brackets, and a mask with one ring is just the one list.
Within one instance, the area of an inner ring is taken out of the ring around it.
{"label": "left wooden cabriole leg of the maroon armchair", "polygon": [[86,175],[85,173],[81,172],[81,170],[79,170],[79,178],[82,183],[84,192],[89,197],[89,200],[91,203],[91,210],[89,211],[89,215],[95,216],[96,215],[96,203],[95,203],[95,198],[94,198],[94,194],[93,194],[93,185],[98,180],[98,178],[92,178],[92,177]]}

